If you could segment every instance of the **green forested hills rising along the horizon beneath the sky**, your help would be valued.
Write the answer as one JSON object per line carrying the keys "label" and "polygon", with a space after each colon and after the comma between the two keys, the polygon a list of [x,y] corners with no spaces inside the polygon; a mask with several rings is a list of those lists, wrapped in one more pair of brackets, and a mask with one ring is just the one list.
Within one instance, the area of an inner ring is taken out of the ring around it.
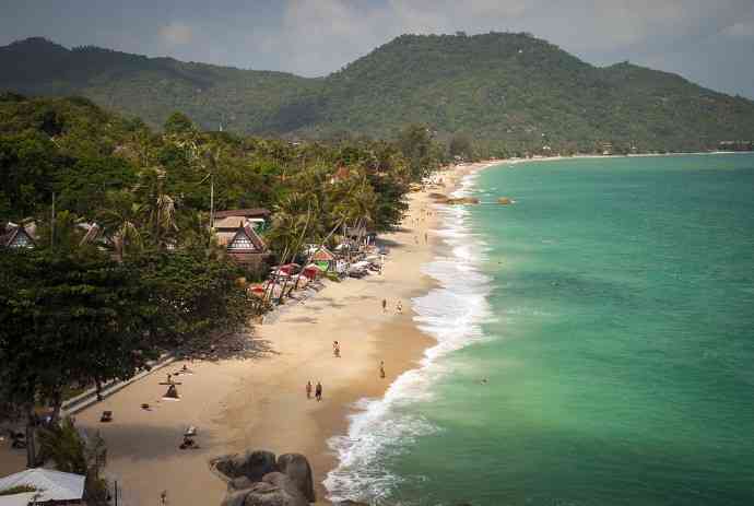
{"label": "green forested hills rising along the horizon beneath the sky", "polygon": [[0,48],[0,89],[80,94],[162,125],[303,138],[425,122],[508,151],[702,150],[754,138],[754,102],[631,63],[598,68],[528,34],[403,35],[321,79],[44,39]]}

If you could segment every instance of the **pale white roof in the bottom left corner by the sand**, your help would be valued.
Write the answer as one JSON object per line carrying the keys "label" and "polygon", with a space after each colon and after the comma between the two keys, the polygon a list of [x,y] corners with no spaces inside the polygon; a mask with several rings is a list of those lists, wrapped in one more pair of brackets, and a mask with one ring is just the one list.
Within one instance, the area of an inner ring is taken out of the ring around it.
{"label": "pale white roof in the bottom left corner by the sand", "polygon": [[85,481],[86,478],[81,474],[42,468],[27,469],[0,478],[0,493],[11,490],[23,491],[0,495],[0,506],[83,505]]}

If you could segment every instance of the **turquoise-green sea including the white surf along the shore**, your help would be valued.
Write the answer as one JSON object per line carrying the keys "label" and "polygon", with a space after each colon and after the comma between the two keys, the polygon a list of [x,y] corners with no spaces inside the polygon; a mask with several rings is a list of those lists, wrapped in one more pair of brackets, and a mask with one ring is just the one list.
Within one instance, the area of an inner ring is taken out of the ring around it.
{"label": "turquoise-green sea including the white surf along the shore", "polygon": [[437,345],[331,439],[331,497],[754,505],[754,155],[503,164],[461,193],[483,203],[440,211],[413,301]]}

